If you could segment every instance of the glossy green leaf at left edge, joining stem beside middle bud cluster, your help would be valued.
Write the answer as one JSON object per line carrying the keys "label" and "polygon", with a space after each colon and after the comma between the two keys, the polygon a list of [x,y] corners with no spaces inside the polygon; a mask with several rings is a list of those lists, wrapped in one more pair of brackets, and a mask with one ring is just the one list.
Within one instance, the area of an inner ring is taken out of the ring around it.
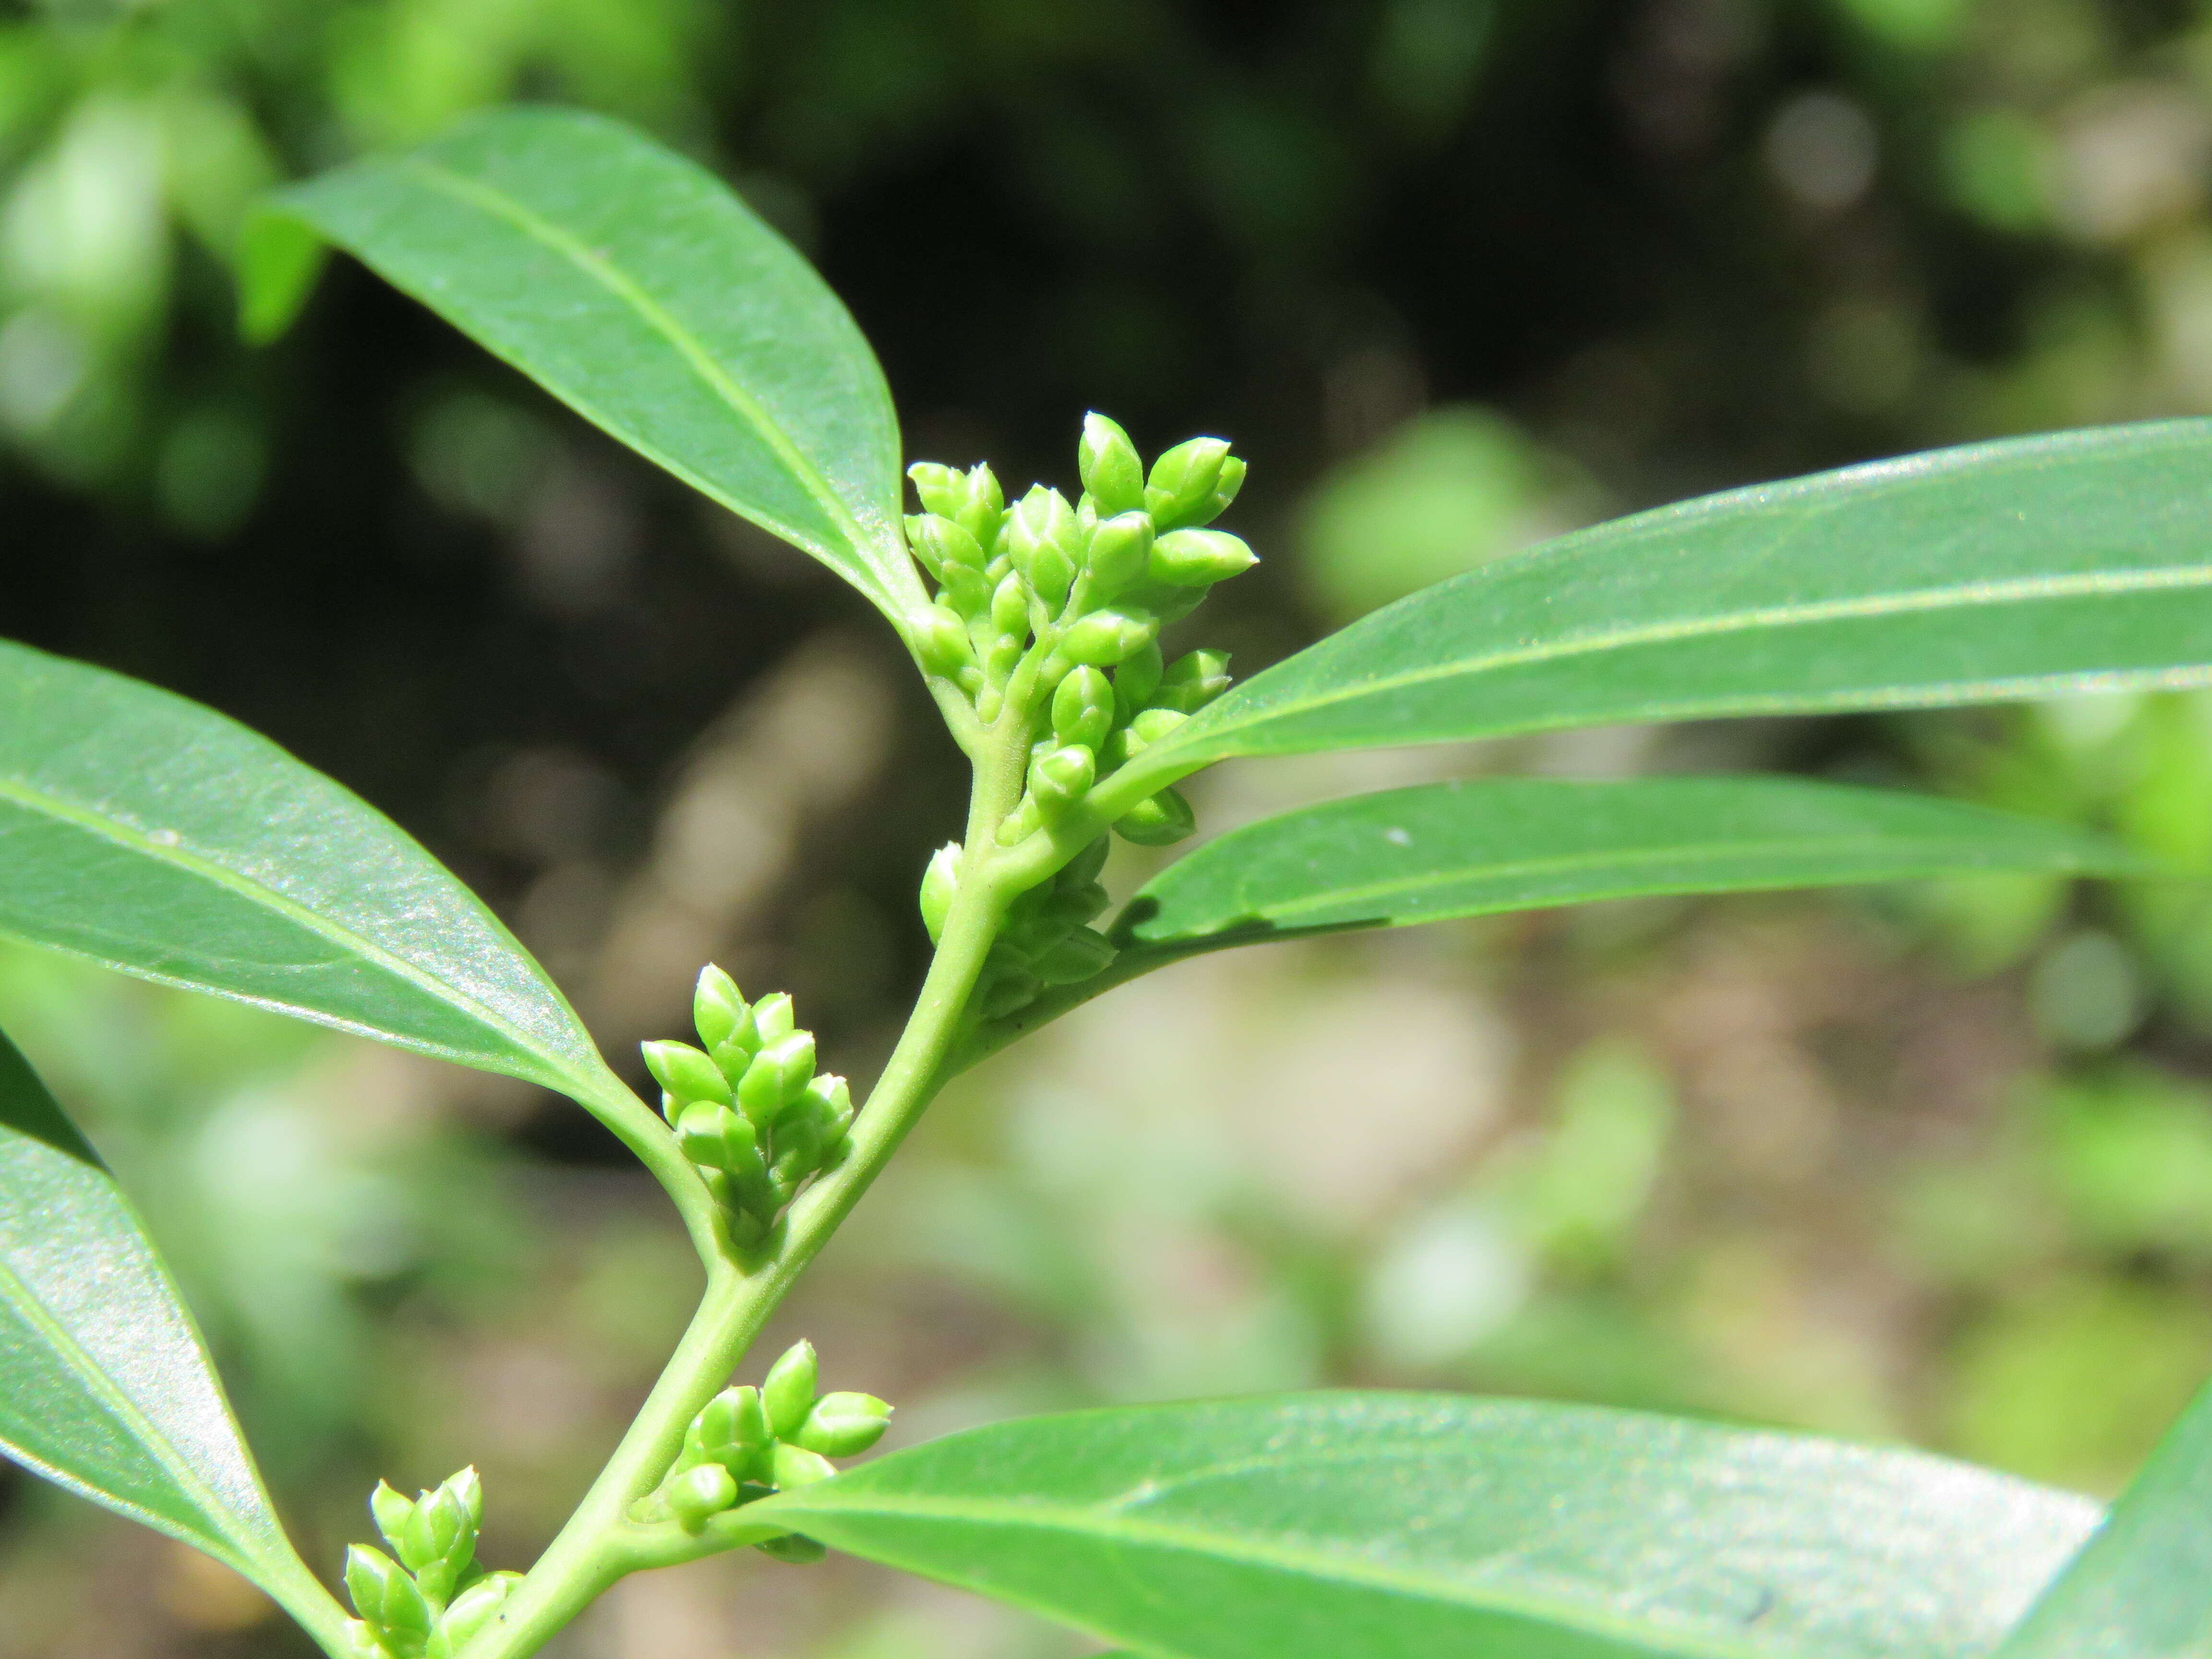
{"label": "glossy green leaf at left edge, joining stem beside middle bud cluster", "polygon": [[199,703],[4,641],[0,933],[619,1091],[531,956],[389,818]]}

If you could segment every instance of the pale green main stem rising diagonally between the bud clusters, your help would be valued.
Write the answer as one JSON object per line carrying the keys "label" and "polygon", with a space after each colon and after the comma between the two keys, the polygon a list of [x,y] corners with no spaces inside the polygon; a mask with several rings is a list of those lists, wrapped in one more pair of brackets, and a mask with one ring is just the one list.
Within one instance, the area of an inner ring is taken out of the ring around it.
{"label": "pale green main stem rising diagonally between the bud clusters", "polygon": [[761,1325],[883,1172],[942,1084],[969,993],[1013,896],[998,869],[1004,858],[993,834],[1020,801],[1029,761],[1024,719],[1009,706],[1009,717],[987,739],[969,796],[967,849],[953,905],[907,1029],[854,1119],[852,1150],[834,1172],[799,1197],[770,1234],[765,1252],[737,1252],[723,1239],[708,1265],[699,1312],[646,1405],[566,1526],[515,1586],[500,1615],[469,1641],[465,1659],[533,1655],[619,1577],[657,1564],[657,1557],[666,1559],[628,1520],[630,1504],[659,1484],[699,1407],[730,1380]]}

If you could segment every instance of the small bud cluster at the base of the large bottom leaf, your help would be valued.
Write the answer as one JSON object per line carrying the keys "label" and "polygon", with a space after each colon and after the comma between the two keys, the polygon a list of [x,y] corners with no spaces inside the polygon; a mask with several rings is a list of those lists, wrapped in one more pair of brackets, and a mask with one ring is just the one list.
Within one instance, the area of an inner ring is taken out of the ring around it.
{"label": "small bud cluster at the base of the large bottom leaf", "polygon": [[[827,1480],[836,1473],[832,1458],[854,1458],[883,1440],[891,1407],[874,1394],[818,1394],[816,1380],[814,1345],[794,1343],[761,1387],[717,1394],[684,1431],[668,1480],[630,1517],[672,1520],[697,1533],[728,1509]],[[757,1548],[779,1562],[823,1557],[821,1544],[796,1535]]]}

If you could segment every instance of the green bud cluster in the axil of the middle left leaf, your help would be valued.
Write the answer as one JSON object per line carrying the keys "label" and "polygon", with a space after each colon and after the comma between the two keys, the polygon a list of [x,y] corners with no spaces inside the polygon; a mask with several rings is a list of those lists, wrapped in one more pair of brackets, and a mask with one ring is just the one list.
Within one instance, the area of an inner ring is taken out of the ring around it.
{"label": "green bud cluster in the axil of the middle left leaf", "polygon": [[814,1073],[814,1033],[783,991],[745,1004],[708,962],[692,995],[701,1048],[644,1044],[661,1110],[721,1201],[737,1243],[754,1243],[814,1175],[845,1157],[852,1091]]}

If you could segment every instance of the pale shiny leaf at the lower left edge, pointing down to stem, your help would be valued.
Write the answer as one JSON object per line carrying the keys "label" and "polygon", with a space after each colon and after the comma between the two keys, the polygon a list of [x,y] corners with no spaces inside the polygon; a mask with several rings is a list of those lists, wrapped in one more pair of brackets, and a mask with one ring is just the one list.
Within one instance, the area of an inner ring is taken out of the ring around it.
{"label": "pale shiny leaf at the lower left edge, pointing down to stem", "polygon": [[321,1639],[341,1632],[137,1214],[4,1035],[0,1451],[204,1548]]}

